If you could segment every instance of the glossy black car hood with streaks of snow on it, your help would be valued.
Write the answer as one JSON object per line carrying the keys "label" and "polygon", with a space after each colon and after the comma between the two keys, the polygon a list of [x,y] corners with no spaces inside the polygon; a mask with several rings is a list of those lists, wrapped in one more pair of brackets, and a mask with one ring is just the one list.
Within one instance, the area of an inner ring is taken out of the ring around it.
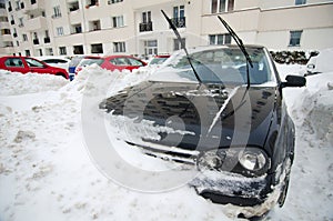
{"label": "glossy black car hood with streaks of snow on it", "polygon": [[[188,150],[264,147],[274,115],[276,86],[222,86],[145,81],[100,103],[131,119],[130,142]],[[149,127],[148,127],[149,125]],[[152,132],[153,131],[153,132]],[[137,135],[134,134],[137,133]]]}

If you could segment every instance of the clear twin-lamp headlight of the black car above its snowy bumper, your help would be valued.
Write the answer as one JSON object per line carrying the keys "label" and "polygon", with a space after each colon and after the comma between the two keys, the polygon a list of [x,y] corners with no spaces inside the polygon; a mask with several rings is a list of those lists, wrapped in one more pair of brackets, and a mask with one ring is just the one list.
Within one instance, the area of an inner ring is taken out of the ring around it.
{"label": "clear twin-lamp headlight of the black car above its snowy bumper", "polygon": [[229,148],[203,152],[198,159],[199,170],[218,170],[260,177],[270,169],[271,161],[259,148]]}

